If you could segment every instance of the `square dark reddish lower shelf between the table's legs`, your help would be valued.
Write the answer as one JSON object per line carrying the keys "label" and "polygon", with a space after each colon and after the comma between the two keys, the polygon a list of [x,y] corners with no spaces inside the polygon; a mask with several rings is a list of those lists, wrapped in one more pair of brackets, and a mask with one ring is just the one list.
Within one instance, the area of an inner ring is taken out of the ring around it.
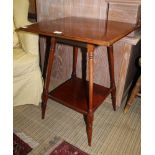
{"label": "square dark reddish lower shelf between the table's legs", "polygon": [[[111,90],[94,83],[93,112],[99,107]],[[76,110],[87,114],[89,103],[89,83],[80,78],[69,79],[49,93],[49,98]]]}

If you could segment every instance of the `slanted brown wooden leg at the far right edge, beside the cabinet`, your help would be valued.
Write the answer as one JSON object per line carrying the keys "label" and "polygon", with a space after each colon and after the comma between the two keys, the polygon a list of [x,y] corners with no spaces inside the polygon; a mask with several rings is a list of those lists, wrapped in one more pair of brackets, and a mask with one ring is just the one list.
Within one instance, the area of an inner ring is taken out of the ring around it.
{"label": "slanted brown wooden leg at the far right edge, beside the cabinet", "polygon": [[141,77],[138,78],[136,85],[134,86],[134,88],[131,92],[129,100],[127,101],[127,104],[124,108],[124,113],[126,113],[129,110],[130,106],[133,104],[135,97],[138,95],[138,93],[140,91],[140,86],[141,86]]}

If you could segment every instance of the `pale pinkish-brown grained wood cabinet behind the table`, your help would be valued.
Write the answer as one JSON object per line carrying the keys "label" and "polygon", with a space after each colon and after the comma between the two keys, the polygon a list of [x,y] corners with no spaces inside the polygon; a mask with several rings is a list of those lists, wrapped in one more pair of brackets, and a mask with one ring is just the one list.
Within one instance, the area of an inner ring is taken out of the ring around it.
{"label": "pale pinkish-brown grained wood cabinet behind the table", "polygon": [[[107,2],[109,2],[109,13],[107,14]],[[107,19],[124,21],[136,24],[140,17],[140,0],[37,0],[37,19],[45,21],[58,19],[67,16],[78,16],[87,18]],[[128,93],[128,88],[132,83],[132,77],[135,75],[135,70],[128,71],[128,68],[136,68],[133,63],[135,58],[133,54],[139,54],[136,49],[139,46],[135,33],[132,37],[125,37],[113,45],[114,48],[114,65],[115,65],[115,82],[116,82],[116,104],[117,107],[125,100],[125,95]],[[46,38],[41,36],[40,51],[41,63],[44,64],[46,53]],[[136,49],[136,50],[135,50]],[[72,73],[72,47],[57,44],[55,53],[55,62],[53,64],[53,73],[51,75],[52,82],[59,85],[61,82],[70,78]],[[107,49],[102,46],[95,48],[94,52],[94,82],[100,85],[109,87],[109,70],[107,62]],[[81,59],[82,53],[78,52],[77,61],[77,77],[81,78]],[[58,66],[59,64],[59,66]],[[128,75],[132,74],[132,76]],[[86,73],[86,75],[88,75]],[[128,77],[129,76],[129,77]],[[88,76],[87,76],[88,79]],[[51,86],[52,87],[52,86]],[[106,99],[111,103],[110,96]]]}

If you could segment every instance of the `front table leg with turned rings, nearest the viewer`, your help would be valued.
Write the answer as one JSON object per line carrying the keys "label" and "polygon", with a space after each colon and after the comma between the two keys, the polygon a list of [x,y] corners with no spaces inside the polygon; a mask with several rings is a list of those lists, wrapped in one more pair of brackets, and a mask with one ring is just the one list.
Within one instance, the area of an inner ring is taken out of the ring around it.
{"label": "front table leg with turned rings, nearest the viewer", "polygon": [[88,63],[89,63],[89,110],[86,116],[88,145],[91,146],[92,126],[93,126],[93,64],[94,64],[94,45],[87,45]]}

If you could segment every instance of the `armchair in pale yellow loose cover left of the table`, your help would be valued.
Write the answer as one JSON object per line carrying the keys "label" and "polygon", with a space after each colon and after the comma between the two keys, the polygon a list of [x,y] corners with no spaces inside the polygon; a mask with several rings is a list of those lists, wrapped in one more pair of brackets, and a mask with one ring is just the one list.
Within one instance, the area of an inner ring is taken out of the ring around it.
{"label": "armchair in pale yellow loose cover left of the table", "polygon": [[39,67],[38,35],[16,32],[31,24],[29,0],[13,0],[13,104],[35,104],[41,101],[43,80]]}

